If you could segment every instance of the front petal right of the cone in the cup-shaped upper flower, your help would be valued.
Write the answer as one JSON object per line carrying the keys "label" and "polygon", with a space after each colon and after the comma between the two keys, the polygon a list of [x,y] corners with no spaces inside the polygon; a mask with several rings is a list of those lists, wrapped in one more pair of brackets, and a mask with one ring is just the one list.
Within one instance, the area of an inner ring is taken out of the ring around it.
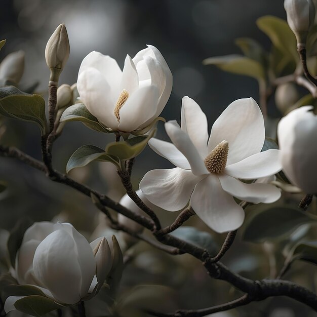
{"label": "front petal right of the cone in the cup-shaped upper flower", "polygon": [[146,122],[155,114],[159,89],[155,86],[145,86],[136,90],[120,110],[121,131],[131,132]]}

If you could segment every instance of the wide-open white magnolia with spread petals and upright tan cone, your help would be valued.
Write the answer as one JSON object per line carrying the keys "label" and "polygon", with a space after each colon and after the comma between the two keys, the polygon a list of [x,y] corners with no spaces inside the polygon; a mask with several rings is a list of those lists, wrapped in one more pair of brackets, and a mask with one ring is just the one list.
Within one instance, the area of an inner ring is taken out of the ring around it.
{"label": "wide-open white magnolia with spread petals and upright tan cone", "polygon": [[214,123],[208,140],[207,118],[200,106],[183,98],[181,127],[169,121],[165,129],[172,143],[151,139],[150,147],[175,166],[149,171],[140,188],[153,204],[177,211],[190,205],[213,230],[240,227],[244,210],[233,199],[272,203],[281,192],[265,183],[246,184],[281,170],[279,150],[261,152],[265,130],[263,116],[252,99],[232,102]]}

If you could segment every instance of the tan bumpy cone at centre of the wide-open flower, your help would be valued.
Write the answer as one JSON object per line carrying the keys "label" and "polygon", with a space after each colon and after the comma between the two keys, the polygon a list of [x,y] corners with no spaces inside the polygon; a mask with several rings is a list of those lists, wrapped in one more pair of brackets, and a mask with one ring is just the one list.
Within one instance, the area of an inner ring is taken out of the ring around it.
{"label": "tan bumpy cone at centre of the wide-open flower", "polygon": [[210,173],[221,174],[227,164],[229,142],[220,142],[210,154],[207,155],[204,163]]}

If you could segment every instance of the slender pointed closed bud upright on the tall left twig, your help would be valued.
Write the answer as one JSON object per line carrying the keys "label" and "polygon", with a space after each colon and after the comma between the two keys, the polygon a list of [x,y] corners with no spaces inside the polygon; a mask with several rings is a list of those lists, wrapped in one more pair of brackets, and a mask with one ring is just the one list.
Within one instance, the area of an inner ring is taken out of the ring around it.
{"label": "slender pointed closed bud upright on the tall left twig", "polygon": [[69,57],[69,41],[65,24],[60,24],[45,48],[45,59],[51,69],[50,81],[58,82],[59,75]]}

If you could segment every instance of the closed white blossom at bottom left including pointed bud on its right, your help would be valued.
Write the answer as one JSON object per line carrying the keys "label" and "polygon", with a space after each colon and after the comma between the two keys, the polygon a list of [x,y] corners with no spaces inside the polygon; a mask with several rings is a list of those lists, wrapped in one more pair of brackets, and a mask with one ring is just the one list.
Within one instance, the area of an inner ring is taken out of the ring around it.
{"label": "closed white blossom at bottom left including pointed bud on its right", "polygon": [[[105,237],[91,244],[69,223],[36,222],[23,236],[12,270],[20,285],[32,285],[59,304],[94,296],[115,265],[114,244]],[[5,311],[25,296],[9,296]]]}

